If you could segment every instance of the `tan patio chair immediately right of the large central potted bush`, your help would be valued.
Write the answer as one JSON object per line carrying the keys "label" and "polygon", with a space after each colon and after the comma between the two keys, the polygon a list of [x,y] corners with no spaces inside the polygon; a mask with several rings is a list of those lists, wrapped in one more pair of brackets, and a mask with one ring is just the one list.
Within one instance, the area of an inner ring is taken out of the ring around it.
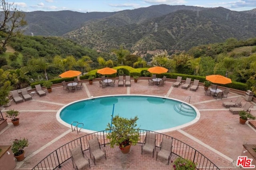
{"label": "tan patio chair immediately right of the large central potted bush", "polygon": [[156,133],[146,132],[146,137],[141,146],[141,154],[143,151],[152,152],[154,158],[154,151],[156,150]]}

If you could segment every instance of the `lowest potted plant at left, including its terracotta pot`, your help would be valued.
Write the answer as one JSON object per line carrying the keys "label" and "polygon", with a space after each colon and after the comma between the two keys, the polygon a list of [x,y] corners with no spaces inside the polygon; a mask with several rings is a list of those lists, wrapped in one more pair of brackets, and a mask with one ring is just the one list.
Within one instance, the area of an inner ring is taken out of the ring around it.
{"label": "lowest potted plant at left, including its terracotta pot", "polygon": [[24,148],[28,147],[28,139],[23,138],[23,139],[15,139],[12,141],[12,153],[14,157],[17,159],[17,161],[22,161],[24,160]]}

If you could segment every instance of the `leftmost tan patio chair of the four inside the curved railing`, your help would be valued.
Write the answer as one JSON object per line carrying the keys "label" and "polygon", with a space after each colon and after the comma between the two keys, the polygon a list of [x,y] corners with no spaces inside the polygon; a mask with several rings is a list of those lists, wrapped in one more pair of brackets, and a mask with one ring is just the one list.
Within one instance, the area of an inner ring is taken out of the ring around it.
{"label": "leftmost tan patio chair of the four inside the curved railing", "polygon": [[85,166],[90,166],[90,159],[85,155],[81,146],[70,149],[70,155],[73,163],[73,167],[77,170],[83,169]]}

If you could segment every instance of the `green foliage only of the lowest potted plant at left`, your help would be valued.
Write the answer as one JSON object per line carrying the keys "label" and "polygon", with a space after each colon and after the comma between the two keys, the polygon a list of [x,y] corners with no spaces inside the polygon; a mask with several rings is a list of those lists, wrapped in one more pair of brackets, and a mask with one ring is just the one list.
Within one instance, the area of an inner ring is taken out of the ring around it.
{"label": "green foliage only of the lowest potted plant at left", "polygon": [[23,139],[14,139],[12,141],[12,153],[14,154],[14,156],[19,156],[21,154],[23,154],[24,152],[24,148],[28,147],[28,139],[23,138]]}

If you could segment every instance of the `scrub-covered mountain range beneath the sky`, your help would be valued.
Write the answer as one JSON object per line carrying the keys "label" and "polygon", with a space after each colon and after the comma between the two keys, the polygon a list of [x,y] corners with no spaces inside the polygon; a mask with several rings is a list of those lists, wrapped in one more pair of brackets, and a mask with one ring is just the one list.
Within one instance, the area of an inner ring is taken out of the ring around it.
{"label": "scrub-covered mountain range beneath the sky", "polygon": [[26,12],[24,34],[63,36],[86,47],[110,51],[123,45],[144,54],[148,50],[188,50],[256,37],[256,9],[156,5],[119,12]]}

